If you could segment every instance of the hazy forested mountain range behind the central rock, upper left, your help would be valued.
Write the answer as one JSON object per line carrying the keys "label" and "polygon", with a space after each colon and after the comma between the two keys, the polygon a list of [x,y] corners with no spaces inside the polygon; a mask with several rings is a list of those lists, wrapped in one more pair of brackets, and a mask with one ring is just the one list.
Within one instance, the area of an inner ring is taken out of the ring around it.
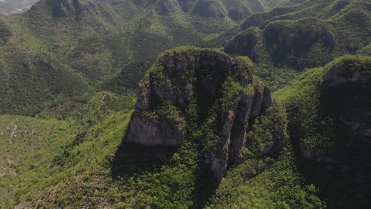
{"label": "hazy forested mountain range behind the central rock, upper left", "polygon": [[[42,0],[22,14],[1,15],[0,114],[29,115],[58,96],[112,88],[105,83],[115,83],[123,66],[218,36],[268,8],[253,2]],[[248,13],[231,19],[233,8]],[[146,70],[134,72],[135,84]]]}

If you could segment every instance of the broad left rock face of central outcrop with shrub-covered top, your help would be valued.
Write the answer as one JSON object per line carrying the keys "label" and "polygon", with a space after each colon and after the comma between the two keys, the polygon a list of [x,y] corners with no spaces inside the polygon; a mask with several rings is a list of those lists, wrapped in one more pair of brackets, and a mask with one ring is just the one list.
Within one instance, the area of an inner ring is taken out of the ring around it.
{"label": "broad left rock face of central outcrop with shrub-covered top", "polygon": [[[204,75],[199,72],[199,68],[218,68],[220,72],[215,77],[202,79]],[[127,141],[144,145],[181,145],[184,124],[180,118],[183,116],[175,110],[158,111],[156,108],[166,103],[169,106],[165,107],[167,110],[171,107],[187,109],[195,98],[195,79],[197,86],[202,86],[200,95],[213,95],[220,86],[218,80],[230,68],[232,59],[220,52],[207,49],[196,49],[192,55],[188,52],[166,52],[139,84],[135,114]],[[149,112],[155,116],[145,116],[150,115]]]}

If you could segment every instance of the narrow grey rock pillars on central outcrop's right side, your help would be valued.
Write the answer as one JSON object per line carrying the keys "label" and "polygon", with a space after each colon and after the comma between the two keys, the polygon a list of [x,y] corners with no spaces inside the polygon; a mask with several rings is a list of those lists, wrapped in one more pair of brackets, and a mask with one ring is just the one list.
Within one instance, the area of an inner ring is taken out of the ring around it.
{"label": "narrow grey rock pillars on central outcrop's right side", "polygon": [[242,93],[232,107],[222,109],[222,135],[215,147],[205,154],[206,164],[216,179],[222,179],[228,165],[240,164],[243,151],[250,144],[248,140],[249,119],[259,116],[263,109],[272,104],[271,91],[260,83],[252,94]]}

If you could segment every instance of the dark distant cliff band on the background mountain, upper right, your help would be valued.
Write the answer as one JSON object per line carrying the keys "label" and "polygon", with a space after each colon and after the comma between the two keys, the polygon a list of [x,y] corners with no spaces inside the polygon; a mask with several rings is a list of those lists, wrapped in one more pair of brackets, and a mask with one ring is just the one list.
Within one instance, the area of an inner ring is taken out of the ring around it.
{"label": "dark distant cliff band on the background mountain, upper right", "polygon": [[252,26],[229,40],[225,52],[249,56],[253,61],[262,58],[297,69],[303,68],[301,62],[308,63],[305,68],[315,68],[331,61],[331,56],[327,55],[333,54],[336,43],[333,33],[321,25],[324,23],[315,18],[306,18],[290,24],[273,22],[264,29]]}

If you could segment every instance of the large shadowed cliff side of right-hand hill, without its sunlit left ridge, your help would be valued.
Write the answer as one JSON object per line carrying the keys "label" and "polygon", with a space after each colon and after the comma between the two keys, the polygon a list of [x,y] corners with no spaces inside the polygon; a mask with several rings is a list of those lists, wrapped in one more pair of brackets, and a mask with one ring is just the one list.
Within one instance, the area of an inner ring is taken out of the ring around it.
{"label": "large shadowed cliff side of right-hand hill, without its sunlit left ridge", "polygon": [[[343,56],[325,65],[323,70],[317,70],[317,75],[324,75],[318,82],[313,82],[318,94],[310,96],[310,103],[305,103],[307,107],[317,104],[317,111],[309,117],[301,115],[303,120],[292,123],[290,134],[293,141],[301,138],[297,148],[305,158],[303,167],[313,174],[310,180],[314,184],[326,182],[324,188],[330,192],[340,187],[360,188],[344,196],[351,199],[351,203],[368,205],[371,188],[371,57]],[[288,105],[295,105],[290,103]],[[290,121],[295,121],[294,114],[289,117]],[[301,124],[313,115],[319,116],[320,120],[308,123],[310,127],[305,130]],[[342,197],[331,198],[342,201]]]}

